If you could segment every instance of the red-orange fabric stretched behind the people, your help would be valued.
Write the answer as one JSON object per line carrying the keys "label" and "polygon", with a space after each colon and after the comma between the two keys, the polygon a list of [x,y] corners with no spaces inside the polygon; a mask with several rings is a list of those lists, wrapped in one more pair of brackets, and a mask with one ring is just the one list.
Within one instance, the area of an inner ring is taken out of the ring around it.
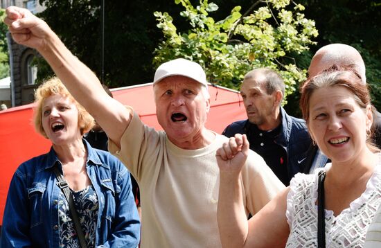
{"label": "red-orange fabric stretched behind the people", "polygon": [[[209,87],[211,111],[206,127],[222,133],[224,127],[247,118],[242,98],[237,92]],[[162,130],[157,123],[152,84],[113,89],[114,98],[130,105],[146,125]],[[20,163],[48,152],[51,142],[37,134],[33,123],[33,104],[13,107],[0,112],[0,225],[12,175]]]}

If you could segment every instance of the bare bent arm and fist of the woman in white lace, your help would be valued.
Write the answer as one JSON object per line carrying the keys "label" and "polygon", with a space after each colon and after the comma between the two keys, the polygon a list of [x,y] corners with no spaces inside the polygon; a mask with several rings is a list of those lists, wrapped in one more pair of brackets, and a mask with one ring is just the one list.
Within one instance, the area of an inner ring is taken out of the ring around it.
{"label": "bare bent arm and fist of the woman in white lace", "polygon": [[290,234],[285,215],[289,188],[247,220],[240,182],[247,150],[246,136],[236,134],[216,152],[220,168],[217,214],[222,247],[285,247]]}

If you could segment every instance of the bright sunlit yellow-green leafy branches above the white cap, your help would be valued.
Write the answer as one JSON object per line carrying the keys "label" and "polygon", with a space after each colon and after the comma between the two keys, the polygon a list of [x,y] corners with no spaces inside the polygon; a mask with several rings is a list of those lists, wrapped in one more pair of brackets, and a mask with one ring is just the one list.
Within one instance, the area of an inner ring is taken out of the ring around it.
{"label": "bright sunlit yellow-green leafy branches above the white cap", "polygon": [[306,19],[304,7],[290,1],[256,1],[245,14],[236,6],[226,18],[215,21],[209,15],[215,3],[175,0],[185,8],[190,29],[180,33],[168,12],[154,12],[165,39],[154,51],[154,64],[185,57],[202,64],[209,82],[238,88],[247,71],[258,67],[276,69],[285,79],[286,93],[304,80],[305,70],[296,67],[291,54],[308,50],[317,37],[314,21]]}

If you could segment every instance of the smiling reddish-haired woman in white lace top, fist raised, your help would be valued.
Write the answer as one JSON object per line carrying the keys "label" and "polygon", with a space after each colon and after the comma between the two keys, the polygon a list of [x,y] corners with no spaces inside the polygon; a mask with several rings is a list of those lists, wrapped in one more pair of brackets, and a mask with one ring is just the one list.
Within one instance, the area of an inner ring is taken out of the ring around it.
{"label": "smiling reddish-haired woman in white lace top, fist raised", "polygon": [[317,188],[324,181],[326,247],[363,247],[381,203],[381,155],[370,143],[369,91],[350,67],[331,67],[305,82],[301,109],[310,135],[332,161],[314,175],[298,174],[253,218],[242,208],[240,168],[246,136],[236,134],[217,152],[218,225],[224,247],[318,247]]}

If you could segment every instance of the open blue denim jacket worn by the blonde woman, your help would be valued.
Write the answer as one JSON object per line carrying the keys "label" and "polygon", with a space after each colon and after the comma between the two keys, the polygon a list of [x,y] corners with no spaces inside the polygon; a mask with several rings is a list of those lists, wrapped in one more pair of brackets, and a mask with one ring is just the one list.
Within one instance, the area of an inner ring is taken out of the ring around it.
{"label": "open blue denim jacket worn by the blonde woman", "polygon": [[[130,172],[109,152],[87,145],[87,175],[98,196],[96,247],[137,247],[139,215]],[[17,168],[8,191],[1,247],[59,247],[58,197],[52,170],[62,164],[51,148]]]}

